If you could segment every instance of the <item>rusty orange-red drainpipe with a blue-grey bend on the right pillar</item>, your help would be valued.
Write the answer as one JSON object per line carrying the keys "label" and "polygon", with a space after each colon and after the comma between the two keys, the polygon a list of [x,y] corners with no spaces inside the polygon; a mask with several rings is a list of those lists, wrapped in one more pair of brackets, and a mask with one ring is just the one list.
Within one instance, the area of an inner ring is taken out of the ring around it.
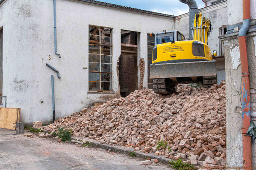
{"label": "rusty orange-red drainpipe with a blue-grey bend on the right pillar", "polygon": [[[252,141],[251,136],[247,136],[250,126],[250,79],[246,47],[246,33],[250,27],[250,0],[243,0],[243,26],[238,34],[241,71],[242,71],[242,118],[243,118],[243,164],[248,170],[252,169]],[[247,169],[246,168],[246,169]]]}

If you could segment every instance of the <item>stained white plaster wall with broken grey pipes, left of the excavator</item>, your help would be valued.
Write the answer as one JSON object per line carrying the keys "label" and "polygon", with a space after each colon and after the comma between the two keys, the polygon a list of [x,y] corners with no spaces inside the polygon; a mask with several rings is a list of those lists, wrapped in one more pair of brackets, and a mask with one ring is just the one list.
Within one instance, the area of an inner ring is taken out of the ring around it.
{"label": "stained white plaster wall with broken grey pipes, left of the excavator", "polygon": [[[53,0],[6,0],[0,6],[3,95],[7,95],[7,107],[21,108],[21,121],[25,123],[52,121],[51,75],[55,83],[56,118],[80,111],[92,102],[118,96],[116,67],[121,54],[121,29],[140,32],[138,58],[144,58],[145,65],[147,33],[174,29],[172,17],[80,1],[57,0],[56,13],[61,59],[54,54]],[[82,68],[88,67],[89,25],[113,28],[113,94],[87,93],[88,69]],[[59,70],[61,79],[46,63]],[[147,69],[144,86],[147,86]]]}

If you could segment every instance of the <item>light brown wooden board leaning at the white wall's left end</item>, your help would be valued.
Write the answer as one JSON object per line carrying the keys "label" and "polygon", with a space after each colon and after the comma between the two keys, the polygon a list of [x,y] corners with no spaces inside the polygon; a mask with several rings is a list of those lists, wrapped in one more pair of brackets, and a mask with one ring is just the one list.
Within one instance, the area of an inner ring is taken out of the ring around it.
{"label": "light brown wooden board leaning at the white wall's left end", "polygon": [[20,108],[0,108],[0,128],[15,130],[16,122],[20,122]]}

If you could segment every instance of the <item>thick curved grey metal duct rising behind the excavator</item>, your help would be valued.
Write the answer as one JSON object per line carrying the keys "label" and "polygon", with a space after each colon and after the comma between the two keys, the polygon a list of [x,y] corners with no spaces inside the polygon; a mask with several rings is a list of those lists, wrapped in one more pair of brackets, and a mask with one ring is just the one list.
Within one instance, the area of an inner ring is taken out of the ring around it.
{"label": "thick curved grey metal duct rising behind the excavator", "polygon": [[193,39],[193,21],[196,13],[198,12],[197,2],[195,0],[179,0],[189,7],[189,38]]}

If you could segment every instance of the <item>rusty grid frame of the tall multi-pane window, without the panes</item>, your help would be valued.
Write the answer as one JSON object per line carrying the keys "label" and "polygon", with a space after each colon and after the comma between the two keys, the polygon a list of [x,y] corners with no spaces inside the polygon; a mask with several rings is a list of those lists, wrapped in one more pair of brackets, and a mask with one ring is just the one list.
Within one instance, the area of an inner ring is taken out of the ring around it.
{"label": "rusty grid frame of the tall multi-pane window, without the panes", "polygon": [[[112,92],[113,91],[113,43],[112,43],[112,30],[113,28],[109,28],[109,27],[105,27],[105,26],[94,26],[94,25],[89,25],[88,28],[90,27],[97,27],[99,28],[99,35],[95,35],[95,34],[91,34],[90,30],[88,30],[88,92]],[[109,38],[110,38],[110,42],[109,42],[109,45],[106,44],[106,43],[102,43],[102,37],[108,37],[108,36],[103,36],[101,35],[101,29],[102,28],[108,28],[110,29],[110,35],[109,35]],[[97,43],[97,41],[95,41],[96,43],[94,44],[93,42],[90,41],[90,36],[98,36],[99,37],[99,43]],[[99,46],[99,54],[95,54],[95,53],[90,53],[90,45],[94,45],[94,46]],[[101,54],[104,47],[109,47],[110,48],[110,51],[109,51],[109,54]],[[99,60],[98,62],[90,62],[90,59],[89,59],[89,56],[90,55],[98,55],[99,56]],[[102,57],[103,56],[109,56],[110,59],[109,59],[109,63],[107,62],[102,62]],[[99,71],[90,71],[90,63],[94,63],[94,64],[99,64]],[[107,65],[110,65],[110,71],[102,71],[102,64],[107,64]],[[90,76],[89,74],[90,73],[99,73],[99,81],[90,81]],[[101,74],[110,74],[110,77],[109,77],[109,81],[103,81],[101,79]],[[89,86],[90,86],[90,82],[98,82],[99,83],[99,90],[90,90],[89,89]],[[103,82],[107,82],[107,83],[110,83],[109,84],[109,90],[101,90],[102,88],[102,83]]]}

